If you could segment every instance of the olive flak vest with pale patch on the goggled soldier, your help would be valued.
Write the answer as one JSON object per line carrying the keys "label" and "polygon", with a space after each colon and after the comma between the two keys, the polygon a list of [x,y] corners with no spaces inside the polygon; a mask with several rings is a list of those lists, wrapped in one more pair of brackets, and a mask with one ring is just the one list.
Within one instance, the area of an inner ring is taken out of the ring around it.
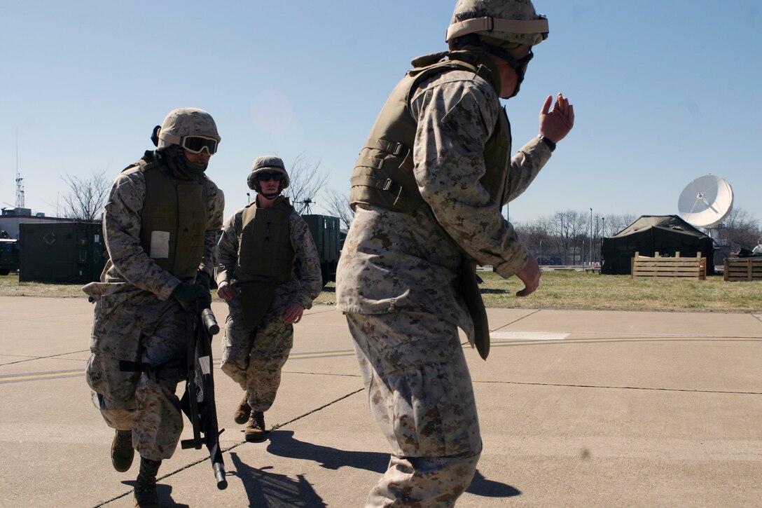
{"label": "olive flak vest with pale patch on the goggled soldier", "polygon": [[194,278],[203,258],[207,230],[207,186],[172,178],[146,153],[125,173],[142,172],[146,199],[140,212],[140,246],[179,279]]}

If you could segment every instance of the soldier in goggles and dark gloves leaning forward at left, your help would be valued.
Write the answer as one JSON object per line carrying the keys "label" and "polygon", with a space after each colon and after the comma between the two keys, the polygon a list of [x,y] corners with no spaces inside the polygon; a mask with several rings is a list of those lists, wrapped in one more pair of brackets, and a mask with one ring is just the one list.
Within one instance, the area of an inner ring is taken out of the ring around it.
{"label": "soldier in goggles and dark gloves leaning forward at left", "polygon": [[[224,209],[223,192],[204,174],[219,143],[206,111],[171,111],[155,142],[158,150],[114,181],[103,216],[109,259],[101,281],[83,288],[95,301],[86,378],[94,404],[117,429],[114,468],[130,468],[133,447],[141,457],[136,506],[158,506],[155,474],[183,429],[174,394],[186,355],[181,312],[210,299]],[[120,360],[150,368],[121,371]]]}

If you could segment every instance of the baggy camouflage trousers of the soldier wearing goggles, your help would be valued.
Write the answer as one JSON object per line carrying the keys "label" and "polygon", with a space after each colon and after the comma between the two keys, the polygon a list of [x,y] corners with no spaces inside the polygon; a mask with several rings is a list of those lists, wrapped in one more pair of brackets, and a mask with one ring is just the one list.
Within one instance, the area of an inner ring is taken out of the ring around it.
{"label": "baggy camouflage trousers of the soldier wearing goggles", "polygon": [[[180,304],[146,291],[101,296],[95,303],[86,377],[108,426],[133,430],[141,457],[170,458],[183,429],[179,361],[186,351]],[[157,373],[123,372],[119,361],[166,365]]]}

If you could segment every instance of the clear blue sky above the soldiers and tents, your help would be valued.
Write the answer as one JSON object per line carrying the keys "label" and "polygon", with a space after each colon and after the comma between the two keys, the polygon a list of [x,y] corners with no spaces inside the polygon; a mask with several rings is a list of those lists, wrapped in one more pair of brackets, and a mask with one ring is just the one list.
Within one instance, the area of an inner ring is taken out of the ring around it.
{"label": "clear blue sky above the soldiers and tents", "polygon": [[[676,214],[701,175],[762,220],[757,147],[759,0],[536,0],[550,36],[507,101],[514,150],[546,95],[575,106],[511,220],[573,209]],[[256,156],[303,154],[348,192],[354,159],[411,57],[446,48],[454,0],[0,4],[0,205],[56,213],[61,176],[109,178],[152,145],[173,108],[210,111],[223,141],[208,175],[226,216],[246,203]],[[315,196],[313,213],[324,213]]]}

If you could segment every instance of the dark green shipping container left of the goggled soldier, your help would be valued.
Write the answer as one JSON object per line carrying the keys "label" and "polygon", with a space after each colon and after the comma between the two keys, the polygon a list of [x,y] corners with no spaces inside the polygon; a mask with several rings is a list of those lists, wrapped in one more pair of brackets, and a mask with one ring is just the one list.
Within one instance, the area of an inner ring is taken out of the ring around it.
{"label": "dark green shipping container left of the goggled soldier", "polygon": [[84,284],[101,277],[106,262],[101,223],[21,223],[19,227],[19,281]]}

